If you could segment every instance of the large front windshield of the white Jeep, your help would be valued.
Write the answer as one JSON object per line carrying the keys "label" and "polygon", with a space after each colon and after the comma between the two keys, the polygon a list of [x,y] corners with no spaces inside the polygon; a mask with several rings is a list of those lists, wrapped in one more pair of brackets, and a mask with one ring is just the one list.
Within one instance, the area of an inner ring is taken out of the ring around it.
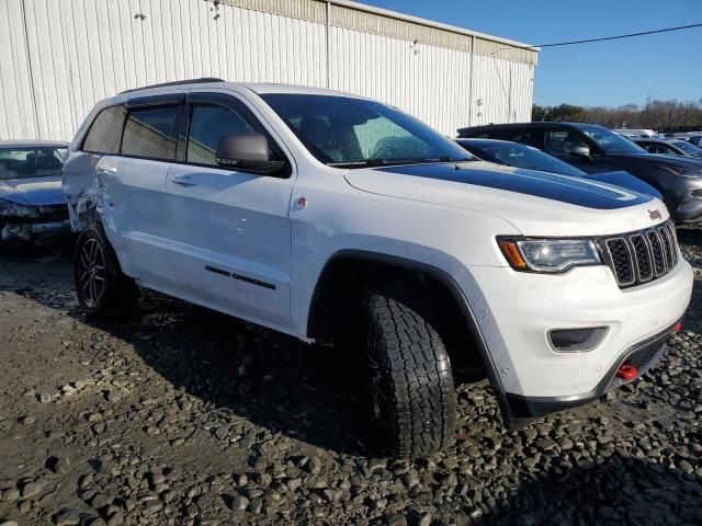
{"label": "large front windshield of the white Jeep", "polygon": [[429,126],[378,102],[313,94],[262,98],[309,152],[330,167],[471,160]]}

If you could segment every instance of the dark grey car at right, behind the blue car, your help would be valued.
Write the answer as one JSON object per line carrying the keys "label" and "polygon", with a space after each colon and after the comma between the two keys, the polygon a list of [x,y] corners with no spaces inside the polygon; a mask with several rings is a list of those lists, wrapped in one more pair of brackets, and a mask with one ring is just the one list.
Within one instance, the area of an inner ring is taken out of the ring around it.
{"label": "dark grey car at right, behind the blue car", "polygon": [[648,153],[603,126],[577,123],[495,124],[458,129],[461,138],[533,146],[588,173],[625,171],[664,195],[676,222],[702,220],[702,161]]}

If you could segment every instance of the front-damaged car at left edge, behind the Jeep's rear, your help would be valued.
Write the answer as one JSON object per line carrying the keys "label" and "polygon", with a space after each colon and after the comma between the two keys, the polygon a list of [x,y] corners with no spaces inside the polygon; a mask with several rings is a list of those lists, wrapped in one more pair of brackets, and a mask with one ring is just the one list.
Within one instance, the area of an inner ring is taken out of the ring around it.
{"label": "front-damaged car at left edge, behind the Jeep's rear", "polygon": [[61,192],[67,142],[0,141],[0,243],[70,235]]}

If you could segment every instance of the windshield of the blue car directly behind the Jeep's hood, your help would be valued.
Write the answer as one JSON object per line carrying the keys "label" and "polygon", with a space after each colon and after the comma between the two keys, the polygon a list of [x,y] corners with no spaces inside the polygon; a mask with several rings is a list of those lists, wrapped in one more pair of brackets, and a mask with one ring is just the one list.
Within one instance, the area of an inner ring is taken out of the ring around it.
{"label": "windshield of the blue car directly behind the Jeep's hood", "polygon": [[577,168],[551,157],[541,150],[525,145],[509,144],[480,146],[471,145],[476,156],[486,161],[499,162],[508,167],[540,170],[542,172],[562,173],[565,175],[582,176],[586,173]]}

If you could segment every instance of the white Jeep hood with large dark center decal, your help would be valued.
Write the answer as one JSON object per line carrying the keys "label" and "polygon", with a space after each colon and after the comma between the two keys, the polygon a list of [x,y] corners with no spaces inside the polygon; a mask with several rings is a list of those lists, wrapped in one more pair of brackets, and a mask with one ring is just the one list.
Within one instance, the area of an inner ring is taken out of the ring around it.
{"label": "white Jeep hood with large dark center decal", "polygon": [[500,217],[526,236],[605,236],[668,217],[650,195],[482,161],[349,170],[344,176],[364,192]]}

